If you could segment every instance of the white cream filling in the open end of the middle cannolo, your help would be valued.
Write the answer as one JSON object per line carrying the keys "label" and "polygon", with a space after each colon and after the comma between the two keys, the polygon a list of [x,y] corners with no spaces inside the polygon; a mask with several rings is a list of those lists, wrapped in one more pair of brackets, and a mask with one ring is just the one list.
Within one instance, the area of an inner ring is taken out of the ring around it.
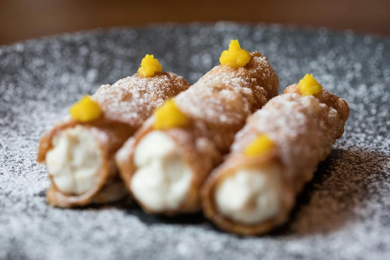
{"label": "white cream filling in the open end of the middle cannolo", "polygon": [[153,211],[175,210],[187,197],[192,180],[180,147],[165,133],[152,131],[134,151],[137,167],[130,188],[135,198]]}

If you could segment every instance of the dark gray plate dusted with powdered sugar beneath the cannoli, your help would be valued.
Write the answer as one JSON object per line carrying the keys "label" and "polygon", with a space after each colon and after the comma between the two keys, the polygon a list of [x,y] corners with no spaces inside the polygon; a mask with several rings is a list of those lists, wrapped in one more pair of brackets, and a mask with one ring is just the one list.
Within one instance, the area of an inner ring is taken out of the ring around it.
{"label": "dark gray plate dusted with powdered sugar beneath the cannoli", "polygon": [[[135,73],[145,53],[194,83],[229,40],[267,56],[280,91],[313,73],[346,99],[346,132],[263,237],[221,232],[199,215],[148,216],[134,205],[63,210],[45,202],[40,134],[101,84]],[[217,23],[66,34],[0,48],[0,259],[390,259],[390,40]]]}

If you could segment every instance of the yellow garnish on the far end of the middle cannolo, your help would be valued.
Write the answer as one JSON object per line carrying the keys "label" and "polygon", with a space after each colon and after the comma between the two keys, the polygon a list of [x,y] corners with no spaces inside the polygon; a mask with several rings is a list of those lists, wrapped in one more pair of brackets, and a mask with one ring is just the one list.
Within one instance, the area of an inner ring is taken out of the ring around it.
{"label": "yellow garnish on the far end of the middle cannolo", "polygon": [[231,68],[238,69],[244,67],[251,60],[249,51],[241,49],[238,40],[231,40],[229,50],[224,50],[219,58],[222,65],[228,65]]}

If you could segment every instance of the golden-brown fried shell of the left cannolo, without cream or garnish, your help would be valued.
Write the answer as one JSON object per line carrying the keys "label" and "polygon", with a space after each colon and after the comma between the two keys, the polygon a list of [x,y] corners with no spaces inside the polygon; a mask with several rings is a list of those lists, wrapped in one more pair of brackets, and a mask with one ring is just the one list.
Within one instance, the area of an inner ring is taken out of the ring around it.
{"label": "golden-brown fried shell of the left cannolo, without cream or garnish", "polygon": [[113,86],[103,85],[92,97],[99,103],[103,111],[103,116],[99,119],[88,123],[79,123],[68,118],[46,131],[39,142],[38,162],[45,163],[46,154],[52,149],[54,136],[61,130],[74,128],[77,125],[90,130],[99,144],[103,161],[97,185],[82,195],[62,193],[49,175],[52,186],[46,194],[48,203],[52,206],[67,208],[84,206],[92,201],[98,201],[100,191],[102,189],[108,190],[108,185],[118,178],[114,160],[117,150],[157,106],[188,87],[189,84],[185,79],[169,72],[159,73],[150,78],[141,78],[135,74],[118,81]]}

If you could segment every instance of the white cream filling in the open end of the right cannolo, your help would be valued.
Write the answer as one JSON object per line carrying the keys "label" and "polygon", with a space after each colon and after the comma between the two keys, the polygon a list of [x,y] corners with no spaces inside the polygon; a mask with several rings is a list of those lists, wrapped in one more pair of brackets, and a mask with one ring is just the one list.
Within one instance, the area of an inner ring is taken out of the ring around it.
{"label": "white cream filling in the open end of the right cannolo", "polygon": [[242,224],[256,224],[278,214],[280,169],[241,169],[224,179],[215,193],[217,209]]}

